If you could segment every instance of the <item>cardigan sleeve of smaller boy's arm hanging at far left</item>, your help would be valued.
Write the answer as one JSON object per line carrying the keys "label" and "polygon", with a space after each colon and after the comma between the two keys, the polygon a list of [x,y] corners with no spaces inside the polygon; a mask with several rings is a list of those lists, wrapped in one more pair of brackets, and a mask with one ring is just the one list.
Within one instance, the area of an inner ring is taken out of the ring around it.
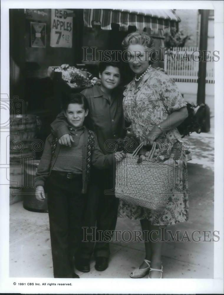
{"label": "cardigan sleeve of smaller boy's arm hanging at far left", "polygon": [[40,163],[37,167],[37,172],[35,176],[35,187],[37,186],[44,186],[45,181],[47,180],[49,173],[50,173],[50,164],[51,164],[51,142],[53,140],[53,135],[50,134],[46,141],[45,147],[40,159]]}

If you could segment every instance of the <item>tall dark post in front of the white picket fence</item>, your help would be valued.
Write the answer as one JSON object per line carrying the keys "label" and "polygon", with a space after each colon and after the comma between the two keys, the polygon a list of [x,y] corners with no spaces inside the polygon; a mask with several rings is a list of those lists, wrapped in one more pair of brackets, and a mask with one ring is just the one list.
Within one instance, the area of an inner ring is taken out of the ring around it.
{"label": "tall dark post in front of the white picket fence", "polygon": [[[201,10],[201,29],[200,29],[200,45],[199,50],[207,50],[208,40],[208,16],[209,10]],[[204,56],[201,52],[202,60],[199,61],[198,68],[198,81],[197,81],[197,104],[205,103],[205,84],[206,84],[206,61],[203,60]]]}

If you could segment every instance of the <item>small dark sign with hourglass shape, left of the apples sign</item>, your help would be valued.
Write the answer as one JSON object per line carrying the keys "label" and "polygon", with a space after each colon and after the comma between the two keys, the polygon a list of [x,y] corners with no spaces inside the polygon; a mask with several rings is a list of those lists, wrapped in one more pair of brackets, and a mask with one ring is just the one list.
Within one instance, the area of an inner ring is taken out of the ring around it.
{"label": "small dark sign with hourglass shape, left of the apples sign", "polygon": [[46,24],[31,22],[31,47],[46,47]]}

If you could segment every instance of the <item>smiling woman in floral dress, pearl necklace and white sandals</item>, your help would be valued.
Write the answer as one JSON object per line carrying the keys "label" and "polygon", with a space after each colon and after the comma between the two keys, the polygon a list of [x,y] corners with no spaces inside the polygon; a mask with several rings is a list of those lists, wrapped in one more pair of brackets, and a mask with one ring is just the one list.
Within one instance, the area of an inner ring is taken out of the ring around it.
{"label": "smiling woman in floral dress, pearl necklace and white sandals", "polygon": [[[133,80],[124,91],[124,117],[131,123],[130,131],[136,140],[151,146],[153,141],[166,142],[167,152],[177,150],[181,139],[177,126],[188,116],[186,103],[174,81],[164,72],[151,67],[153,40],[145,32],[133,32],[122,42],[129,56],[129,66],[135,73]],[[158,152],[158,151],[157,151]],[[162,212],[155,212],[120,200],[118,217],[140,219],[143,232],[157,231],[158,235],[151,240],[162,239],[162,228],[167,224],[188,220],[187,167],[185,153],[181,152],[182,191],[169,194],[167,206]],[[180,183],[179,183],[180,184]],[[139,268],[130,276],[141,278],[149,272],[149,278],[162,278],[162,245],[163,242],[151,242],[149,236],[145,240],[146,257]]]}

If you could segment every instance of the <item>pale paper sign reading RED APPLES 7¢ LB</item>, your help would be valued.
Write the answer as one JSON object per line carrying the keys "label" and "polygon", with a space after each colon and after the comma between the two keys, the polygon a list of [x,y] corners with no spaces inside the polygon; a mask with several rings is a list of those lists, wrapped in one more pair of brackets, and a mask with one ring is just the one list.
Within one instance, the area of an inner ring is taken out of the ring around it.
{"label": "pale paper sign reading RED APPLES 7\u00a2 LB", "polygon": [[67,14],[73,13],[67,9],[51,9],[51,47],[72,47],[73,18]]}

